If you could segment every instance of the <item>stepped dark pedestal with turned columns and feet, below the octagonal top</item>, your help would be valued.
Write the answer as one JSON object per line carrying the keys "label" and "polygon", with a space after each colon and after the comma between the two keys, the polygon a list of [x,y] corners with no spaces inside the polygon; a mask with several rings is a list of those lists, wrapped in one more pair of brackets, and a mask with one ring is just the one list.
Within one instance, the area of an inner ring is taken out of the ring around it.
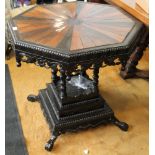
{"label": "stepped dark pedestal with turned columns and feet, below the octagonal top", "polygon": [[112,123],[127,131],[128,125],[114,116],[112,109],[99,95],[99,66],[93,65],[92,78],[86,70],[78,70],[68,74],[62,66],[52,66],[53,82],[46,89],[39,91],[38,96],[28,96],[29,101],[39,101],[44,115],[51,128],[52,137],[45,145],[50,151],[56,138],[65,132],[96,127],[100,124]]}

